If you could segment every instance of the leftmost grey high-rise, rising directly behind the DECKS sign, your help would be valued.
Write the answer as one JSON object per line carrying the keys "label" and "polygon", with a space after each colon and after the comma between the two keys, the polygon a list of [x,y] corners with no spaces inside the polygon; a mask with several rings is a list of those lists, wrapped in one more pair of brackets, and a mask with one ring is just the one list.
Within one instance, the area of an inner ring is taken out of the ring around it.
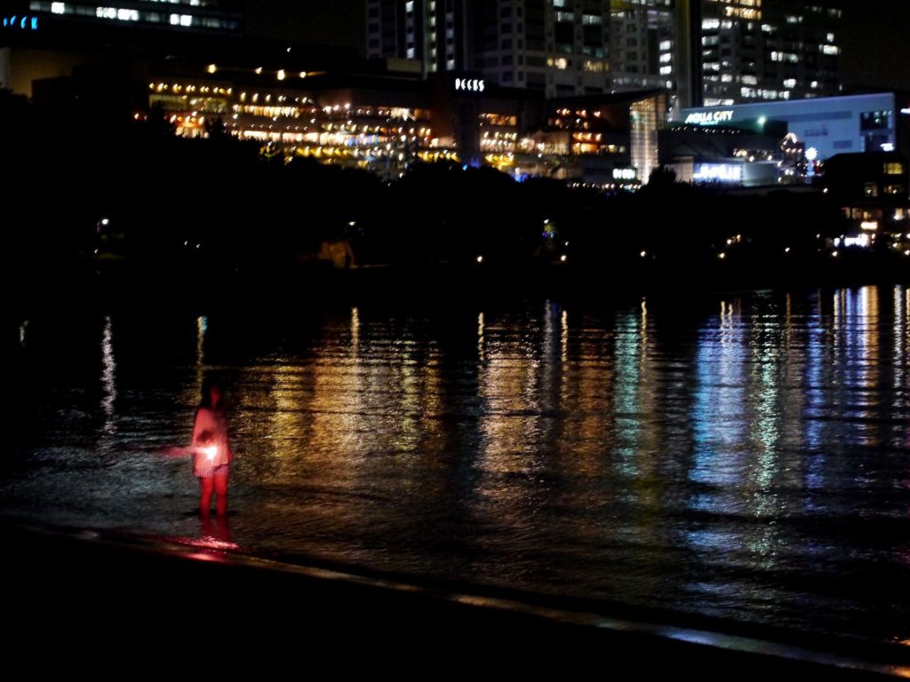
{"label": "leftmost grey high-rise, rising directly behind the DECKS sign", "polygon": [[367,55],[549,96],[608,92],[609,0],[367,0]]}

